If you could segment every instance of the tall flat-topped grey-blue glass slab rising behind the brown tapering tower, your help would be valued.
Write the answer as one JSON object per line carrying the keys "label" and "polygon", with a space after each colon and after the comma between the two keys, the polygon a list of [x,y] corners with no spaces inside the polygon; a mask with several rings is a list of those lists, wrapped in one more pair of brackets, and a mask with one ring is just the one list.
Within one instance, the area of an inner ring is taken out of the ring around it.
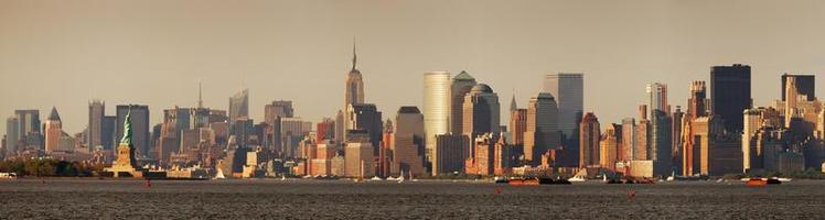
{"label": "tall flat-topped grey-blue glass slab rising behind the brown tapering tower", "polygon": [[578,130],[577,118],[583,112],[585,75],[548,74],[544,81],[544,91],[549,92],[558,102],[558,131],[570,136]]}

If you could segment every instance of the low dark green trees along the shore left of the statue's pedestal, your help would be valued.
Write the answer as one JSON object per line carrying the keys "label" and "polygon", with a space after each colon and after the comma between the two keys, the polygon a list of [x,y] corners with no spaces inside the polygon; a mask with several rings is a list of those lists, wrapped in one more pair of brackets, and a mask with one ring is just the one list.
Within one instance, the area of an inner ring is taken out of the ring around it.
{"label": "low dark green trees along the shore left of the statue's pedestal", "polygon": [[18,176],[38,177],[86,177],[104,169],[103,164],[66,162],[53,158],[1,161],[0,172]]}

